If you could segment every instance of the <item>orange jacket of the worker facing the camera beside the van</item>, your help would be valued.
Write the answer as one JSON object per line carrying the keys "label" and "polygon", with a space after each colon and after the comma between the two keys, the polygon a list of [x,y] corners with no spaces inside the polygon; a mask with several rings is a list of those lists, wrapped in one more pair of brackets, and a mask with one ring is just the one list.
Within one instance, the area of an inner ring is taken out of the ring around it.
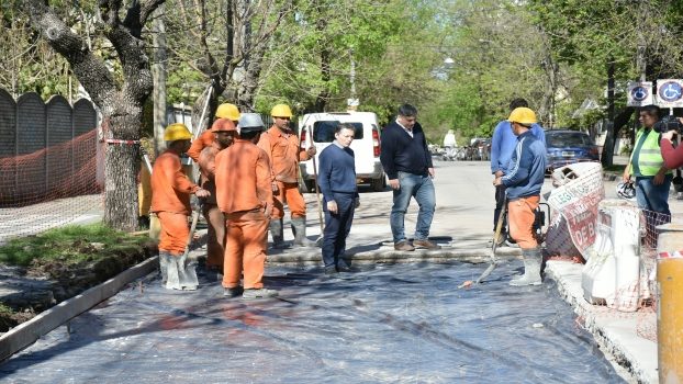
{"label": "orange jacket of the worker facing the camera beside the van", "polygon": [[268,154],[273,177],[277,181],[295,183],[299,161],[307,160],[309,154],[299,147],[299,138],[294,133],[284,134],[277,126],[261,134],[258,146]]}

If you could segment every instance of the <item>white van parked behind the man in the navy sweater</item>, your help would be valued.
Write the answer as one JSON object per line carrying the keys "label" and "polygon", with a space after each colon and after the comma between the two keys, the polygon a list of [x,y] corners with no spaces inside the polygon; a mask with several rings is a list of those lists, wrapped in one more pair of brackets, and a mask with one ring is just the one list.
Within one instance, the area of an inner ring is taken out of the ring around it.
{"label": "white van parked behind the man in the navy sweater", "polygon": [[[372,190],[383,191],[387,187],[387,177],[380,162],[380,128],[374,113],[321,112],[305,114],[299,120],[301,147],[309,148],[311,145],[315,145],[317,150],[315,165],[317,166],[317,157],[325,147],[334,142],[334,129],[339,123],[350,124],[356,129],[351,149],[356,156],[357,182],[370,183]],[[303,180],[300,185],[301,191],[314,192],[317,169],[315,171],[313,169],[313,159],[301,161],[299,168]]]}

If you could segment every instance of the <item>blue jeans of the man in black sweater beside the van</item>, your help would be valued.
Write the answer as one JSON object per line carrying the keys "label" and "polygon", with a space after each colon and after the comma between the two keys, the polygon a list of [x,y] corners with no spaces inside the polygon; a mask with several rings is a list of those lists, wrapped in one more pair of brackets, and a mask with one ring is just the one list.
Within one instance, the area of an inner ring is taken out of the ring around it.
{"label": "blue jeans of the man in black sweater beside the van", "polygon": [[415,225],[415,239],[425,240],[429,237],[429,227],[434,218],[436,206],[436,194],[434,183],[427,176],[399,172],[399,183],[401,189],[394,190],[394,204],[391,207],[389,223],[394,244],[405,241],[405,212],[411,203],[411,196],[415,197],[419,212],[417,213],[417,224]]}

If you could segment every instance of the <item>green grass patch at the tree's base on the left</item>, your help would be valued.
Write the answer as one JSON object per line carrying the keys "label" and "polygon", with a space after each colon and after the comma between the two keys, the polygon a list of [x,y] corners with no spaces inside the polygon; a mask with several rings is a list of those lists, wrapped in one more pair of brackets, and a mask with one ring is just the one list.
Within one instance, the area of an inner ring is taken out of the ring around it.
{"label": "green grass patch at the tree's base on the left", "polygon": [[10,240],[0,247],[0,262],[22,267],[34,260],[78,263],[135,251],[148,241],[147,237],[131,236],[103,224],[72,225]]}

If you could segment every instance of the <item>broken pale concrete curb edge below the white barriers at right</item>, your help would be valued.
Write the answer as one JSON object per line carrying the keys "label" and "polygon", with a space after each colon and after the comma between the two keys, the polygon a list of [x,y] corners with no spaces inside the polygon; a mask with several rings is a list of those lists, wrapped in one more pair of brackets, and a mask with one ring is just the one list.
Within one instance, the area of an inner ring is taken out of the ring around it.
{"label": "broken pale concrete curb edge below the white barriers at right", "polygon": [[657,358],[647,359],[657,355],[657,343],[637,337],[636,314],[625,314],[624,318],[617,318],[601,310],[604,307],[583,300],[581,271],[581,264],[562,261],[549,261],[546,267],[546,275],[557,282],[560,296],[583,319],[585,329],[593,335],[601,350],[612,357],[617,372],[637,383],[658,383]]}

